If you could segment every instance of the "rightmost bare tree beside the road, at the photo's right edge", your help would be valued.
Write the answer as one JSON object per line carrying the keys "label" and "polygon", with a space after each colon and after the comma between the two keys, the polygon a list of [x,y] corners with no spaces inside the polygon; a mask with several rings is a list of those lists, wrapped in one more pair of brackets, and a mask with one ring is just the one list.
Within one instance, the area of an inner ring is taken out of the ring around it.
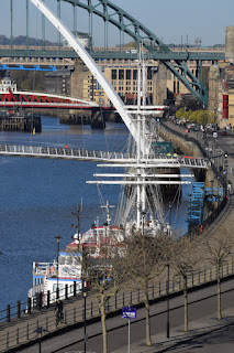
{"label": "rightmost bare tree beside the road, at the photo's right edge", "polygon": [[234,250],[234,239],[230,229],[222,229],[210,236],[202,237],[204,260],[216,268],[216,290],[218,290],[218,319],[222,319],[221,306],[221,277],[224,263],[231,257]]}

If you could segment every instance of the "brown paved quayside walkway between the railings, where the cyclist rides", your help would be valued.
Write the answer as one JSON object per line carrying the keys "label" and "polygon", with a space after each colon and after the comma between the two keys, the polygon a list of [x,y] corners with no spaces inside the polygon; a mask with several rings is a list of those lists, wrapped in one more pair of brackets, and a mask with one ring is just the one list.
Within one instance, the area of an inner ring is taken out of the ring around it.
{"label": "brown paved quayside walkway between the railings, where the cyclist rides", "polygon": [[[226,264],[223,267],[223,278],[230,278],[230,276],[234,275],[234,265],[232,263]],[[216,271],[215,268],[207,268],[202,271],[198,271],[190,276],[188,280],[188,287],[190,289],[201,289],[205,284],[215,282]],[[233,286],[233,285],[232,285]],[[232,288],[232,287],[231,287]],[[231,289],[227,288],[229,290]],[[182,280],[171,280],[169,285],[169,293],[172,297],[178,299],[175,302],[175,307],[182,306]],[[152,304],[157,303],[158,310],[158,302],[164,301],[166,299],[167,290],[166,290],[166,282],[164,281],[164,277],[161,282],[158,284],[156,287],[151,288],[149,299]],[[203,296],[209,296],[209,292],[204,295],[201,291],[198,298],[202,298]],[[199,299],[199,300],[200,300]],[[87,327],[90,327],[92,334],[100,334],[100,314],[96,298],[93,295],[89,295],[87,297],[86,302],[86,322]],[[122,307],[129,306],[131,302],[136,308],[142,308],[142,302],[144,300],[144,292],[138,291],[121,291],[116,295],[116,297],[110,298],[108,306],[107,306],[107,314],[111,320],[111,328],[116,329],[119,325],[123,324],[123,319],[121,320],[121,309]],[[71,297],[71,299],[64,300],[64,313],[65,320],[64,323],[56,325],[56,315],[54,312],[54,307],[51,306],[49,308],[43,308],[42,310],[32,310],[32,313],[22,313],[21,318],[12,318],[10,322],[1,322],[0,323],[0,352],[19,352],[23,349],[29,349],[25,352],[33,352],[31,351],[31,346],[37,343],[38,336],[36,330],[38,328],[43,328],[43,341],[53,339],[53,347],[52,350],[43,350],[43,352],[56,352],[56,350],[66,347],[67,345],[71,344],[73,342],[76,343],[79,340],[77,339],[77,334],[71,334],[74,336],[74,341],[67,336],[66,332],[71,332],[74,330],[79,331],[80,340],[83,339],[83,299],[80,296]],[[140,315],[143,319],[144,312]],[[119,318],[119,319],[118,319]],[[140,319],[138,318],[138,319]],[[180,324],[182,319],[180,321]],[[98,323],[97,328],[96,324]],[[108,324],[109,325],[109,324]],[[99,333],[96,332],[98,330]],[[94,333],[96,332],[96,333]],[[63,341],[58,339],[64,334]],[[49,343],[46,343],[49,346]],[[65,352],[65,351],[64,351]],[[101,351],[97,351],[99,353]]]}

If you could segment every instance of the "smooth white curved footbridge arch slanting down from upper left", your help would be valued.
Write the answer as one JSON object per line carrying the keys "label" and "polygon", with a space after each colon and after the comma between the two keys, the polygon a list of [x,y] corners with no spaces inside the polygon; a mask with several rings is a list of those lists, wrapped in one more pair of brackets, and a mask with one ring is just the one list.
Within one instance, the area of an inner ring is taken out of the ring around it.
{"label": "smooth white curved footbridge arch slanting down from upper left", "polygon": [[[52,12],[52,10],[43,3],[42,0],[31,0],[36,8],[45,14],[45,17],[54,24],[54,26],[60,32],[60,34],[68,41],[73,49],[77,52],[80,58],[83,61],[86,66],[90,69],[96,79],[100,83],[103,90],[108,95],[109,99],[112,101],[113,106],[122,117],[127,129],[132,133],[134,140],[137,140],[136,126],[130,113],[124,109],[124,104],[119,97],[112,85],[109,83],[108,78],[102,74],[101,69],[98,67],[96,62],[89,55],[89,53],[82,47],[82,45],[77,41],[73,33],[65,26],[65,24]],[[144,142],[146,143],[146,141]],[[143,146],[143,143],[141,143]]]}

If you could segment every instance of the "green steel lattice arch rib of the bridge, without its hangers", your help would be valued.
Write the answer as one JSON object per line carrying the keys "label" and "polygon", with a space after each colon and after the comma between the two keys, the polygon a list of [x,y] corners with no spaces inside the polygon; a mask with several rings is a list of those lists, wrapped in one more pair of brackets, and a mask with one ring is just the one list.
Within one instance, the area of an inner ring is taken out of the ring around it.
{"label": "green steel lattice arch rib of the bridge, without its hangers", "polygon": [[[140,21],[134,19],[120,7],[109,0],[57,0],[70,3],[88,11],[90,15],[96,14],[110,22],[120,31],[129,34],[136,43],[143,42],[149,52],[171,53],[169,46],[164,44],[157,35],[149,31]],[[208,93],[202,82],[189,69],[186,61],[182,60],[160,60],[160,62],[187,87],[187,89],[201,103],[203,107],[208,105]]]}

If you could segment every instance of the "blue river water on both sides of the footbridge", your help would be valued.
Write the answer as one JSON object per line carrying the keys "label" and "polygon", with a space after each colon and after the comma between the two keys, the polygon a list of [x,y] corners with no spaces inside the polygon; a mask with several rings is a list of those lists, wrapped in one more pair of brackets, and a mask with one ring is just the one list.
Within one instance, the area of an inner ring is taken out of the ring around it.
{"label": "blue river water on both sides of the footbridge", "polygon": [[[102,131],[88,126],[69,127],[56,118],[43,117],[42,133],[1,131],[0,143],[124,151],[127,137],[129,131],[120,124],[108,124]],[[56,258],[57,234],[62,236],[62,249],[71,240],[71,224],[76,224],[71,212],[76,212],[77,203],[83,205],[81,232],[97,217],[103,223],[102,199],[104,203],[109,200],[110,204],[118,204],[119,186],[97,189],[86,183],[97,172],[105,171],[93,162],[0,157],[0,310],[8,303],[26,301],[32,287],[32,263]],[[190,193],[191,185],[183,186],[180,203],[172,206],[171,223],[180,234],[186,231]]]}

